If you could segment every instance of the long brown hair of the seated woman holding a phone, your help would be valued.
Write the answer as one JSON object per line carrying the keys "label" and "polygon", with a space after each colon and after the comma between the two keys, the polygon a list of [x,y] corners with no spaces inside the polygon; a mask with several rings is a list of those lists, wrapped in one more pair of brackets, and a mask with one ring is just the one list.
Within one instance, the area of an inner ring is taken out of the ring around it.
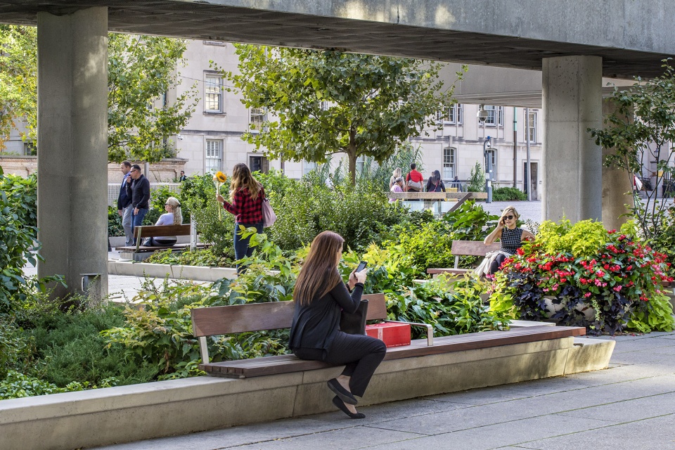
{"label": "long brown hair of the seated woman holding a phone", "polygon": [[311,241],[309,254],[295,282],[295,302],[309,304],[315,298],[326,295],[338,283],[342,283],[336,257],[338,251],[342,251],[344,242],[342,236],[333,231],[323,231]]}

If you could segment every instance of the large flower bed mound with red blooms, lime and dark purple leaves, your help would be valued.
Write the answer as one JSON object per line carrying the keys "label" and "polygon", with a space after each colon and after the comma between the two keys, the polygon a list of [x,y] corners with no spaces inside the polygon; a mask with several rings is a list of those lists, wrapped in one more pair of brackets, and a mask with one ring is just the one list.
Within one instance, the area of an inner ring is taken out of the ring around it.
{"label": "large flower bed mound with red blooms, lime and dark purple leaves", "polygon": [[491,309],[514,319],[586,326],[589,334],[673,330],[662,288],[673,280],[670,264],[636,236],[633,224],[617,232],[591,220],[544,222],[536,240],[494,276]]}

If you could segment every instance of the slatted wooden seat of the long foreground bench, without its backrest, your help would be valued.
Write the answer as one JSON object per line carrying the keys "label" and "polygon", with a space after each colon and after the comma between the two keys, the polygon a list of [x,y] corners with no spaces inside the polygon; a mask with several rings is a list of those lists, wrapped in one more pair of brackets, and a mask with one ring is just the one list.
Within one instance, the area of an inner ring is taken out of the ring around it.
{"label": "slatted wooden seat of the long foreground bench, without its backrest", "polygon": [[[508,331],[484,331],[482,333],[445,336],[443,338],[436,338],[432,346],[428,346],[425,339],[418,339],[411,341],[411,345],[387,347],[385,360],[462,352],[465,350],[522,344],[538,340],[560,339],[585,334],[586,328],[584,327],[532,326],[514,328]],[[200,364],[199,367],[201,370],[214,376],[250,378],[278,373],[309,371],[330,366],[330,364],[322,361],[306,361],[298,359],[295,355],[285,354],[256,359]]]}

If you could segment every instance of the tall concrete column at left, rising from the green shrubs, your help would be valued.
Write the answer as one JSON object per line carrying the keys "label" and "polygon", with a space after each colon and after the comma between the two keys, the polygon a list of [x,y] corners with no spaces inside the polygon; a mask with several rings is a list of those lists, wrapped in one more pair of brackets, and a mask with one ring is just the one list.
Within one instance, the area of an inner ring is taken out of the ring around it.
{"label": "tall concrete column at left, rising from the green shrubs", "polygon": [[39,276],[65,276],[83,294],[83,274],[108,293],[108,9],[37,16],[37,224]]}

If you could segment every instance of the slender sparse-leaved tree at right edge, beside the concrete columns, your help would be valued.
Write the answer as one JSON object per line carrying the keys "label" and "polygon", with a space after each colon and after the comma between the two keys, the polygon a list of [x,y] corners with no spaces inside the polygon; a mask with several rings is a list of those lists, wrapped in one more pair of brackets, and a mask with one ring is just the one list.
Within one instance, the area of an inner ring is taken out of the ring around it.
{"label": "slender sparse-leaved tree at right edge, beside the concrete columns", "polygon": [[605,117],[602,129],[589,129],[596,143],[613,153],[605,158],[608,167],[626,171],[634,186],[634,179],[656,162],[656,186],[645,190],[645,201],[634,189],[634,217],[645,238],[659,237],[664,226],[667,209],[665,197],[657,199],[659,186],[664,193],[673,194],[675,167],[675,68],[669,60],[663,61],[664,74],[654,79],[636,78],[629,88],[617,89],[610,98],[614,113]]}

